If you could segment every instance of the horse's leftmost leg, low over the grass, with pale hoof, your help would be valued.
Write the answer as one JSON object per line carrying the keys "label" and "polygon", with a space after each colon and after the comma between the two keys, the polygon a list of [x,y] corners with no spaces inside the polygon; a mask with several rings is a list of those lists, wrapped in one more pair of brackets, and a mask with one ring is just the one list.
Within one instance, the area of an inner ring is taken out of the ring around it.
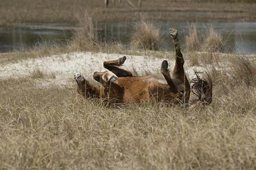
{"label": "horse's leftmost leg, low over the grass, with pale hoof", "polygon": [[80,73],[76,73],[74,79],[77,83],[77,92],[82,96],[86,98],[104,98],[104,89],[93,86]]}

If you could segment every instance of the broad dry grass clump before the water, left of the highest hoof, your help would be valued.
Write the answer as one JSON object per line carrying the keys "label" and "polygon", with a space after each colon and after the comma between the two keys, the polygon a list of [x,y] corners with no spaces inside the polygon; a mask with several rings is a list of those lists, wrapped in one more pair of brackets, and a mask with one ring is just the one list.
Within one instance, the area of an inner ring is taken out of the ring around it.
{"label": "broad dry grass clump before the water, left of the highest hoof", "polygon": [[159,50],[161,48],[159,29],[148,21],[147,16],[141,16],[131,40],[131,45],[134,48],[144,50]]}

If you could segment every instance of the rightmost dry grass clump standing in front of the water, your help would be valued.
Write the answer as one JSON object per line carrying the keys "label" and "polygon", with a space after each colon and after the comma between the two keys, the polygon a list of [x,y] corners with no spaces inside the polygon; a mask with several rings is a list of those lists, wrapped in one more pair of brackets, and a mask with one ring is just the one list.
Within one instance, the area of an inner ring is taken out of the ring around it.
{"label": "rightmost dry grass clump standing in front of the water", "polygon": [[209,32],[204,38],[204,43],[202,45],[202,51],[208,52],[222,52],[223,50],[223,36],[221,32],[214,30],[211,26]]}

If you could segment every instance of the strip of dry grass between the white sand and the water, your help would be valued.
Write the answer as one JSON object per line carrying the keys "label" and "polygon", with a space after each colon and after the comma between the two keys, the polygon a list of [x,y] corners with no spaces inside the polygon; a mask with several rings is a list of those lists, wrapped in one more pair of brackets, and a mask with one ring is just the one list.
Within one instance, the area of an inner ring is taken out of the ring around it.
{"label": "strip of dry grass between the white sand and the water", "polygon": [[166,52],[166,51],[152,51],[152,50],[131,50],[130,48],[126,48],[118,43],[99,43],[99,45],[94,46],[91,49],[86,47],[78,47],[74,44],[69,44],[64,47],[51,47],[45,46],[43,48],[33,48],[25,51],[15,51],[12,53],[2,53],[0,54],[0,66],[8,63],[17,63],[19,61],[27,60],[27,59],[35,59],[41,57],[49,57],[53,55],[59,55],[64,53],[73,53],[77,51],[89,51],[92,53],[109,53],[109,54],[127,54],[127,55],[145,55],[150,58],[168,58],[170,55],[173,55],[174,52]]}

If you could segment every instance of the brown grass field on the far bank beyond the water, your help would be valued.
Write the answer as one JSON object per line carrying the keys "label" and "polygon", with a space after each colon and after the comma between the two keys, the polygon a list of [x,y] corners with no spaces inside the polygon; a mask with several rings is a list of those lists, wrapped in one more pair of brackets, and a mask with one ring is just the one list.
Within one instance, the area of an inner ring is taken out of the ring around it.
{"label": "brown grass field on the far bank beyond the water", "polygon": [[125,0],[110,0],[109,7],[104,8],[103,2],[103,0],[2,0],[0,25],[12,26],[21,23],[76,25],[85,11],[88,11],[93,21],[97,22],[140,20],[141,13],[146,13],[149,18],[157,21],[256,21],[256,4],[253,0],[145,0],[142,1],[141,8],[138,8],[137,0],[130,0],[135,7]]}

